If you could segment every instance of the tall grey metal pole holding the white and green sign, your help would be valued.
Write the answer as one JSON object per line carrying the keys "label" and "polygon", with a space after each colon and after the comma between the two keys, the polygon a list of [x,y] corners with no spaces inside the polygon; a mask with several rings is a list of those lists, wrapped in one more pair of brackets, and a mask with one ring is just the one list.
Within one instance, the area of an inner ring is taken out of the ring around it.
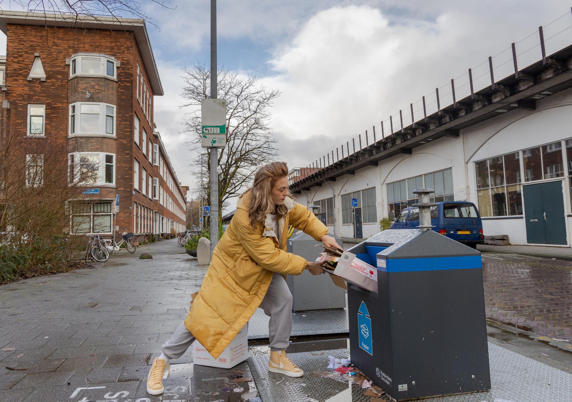
{"label": "tall grey metal pole holding the white and green sign", "polygon": [[[217,98],[216,0],[210,0],[210,98]],[[210,148],[210,254],[219,242],[219,149]]]}

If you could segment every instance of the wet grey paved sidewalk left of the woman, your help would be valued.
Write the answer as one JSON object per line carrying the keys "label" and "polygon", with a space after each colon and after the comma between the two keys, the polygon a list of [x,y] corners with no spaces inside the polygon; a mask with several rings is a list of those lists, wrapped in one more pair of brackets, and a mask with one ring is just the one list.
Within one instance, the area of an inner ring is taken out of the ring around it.
{"label": "wet grey paved sidewalk left of the woman", "polygon": [[[190,351],[172,361],[165,380],[170,395],[146,395],[149,364],[184,319],[190,293],[206,273],[186,254],[160,255],[177,250],[173,242],[149,246],[153,260],[112,258],[0,286],[0,401],[209,400],[197,395],[212,391],[225,397],[213,389],[224,381],[208,379],[223,373],[232,382],[240,373],[193,368]],[[249,375],[245,363],[236,368]],[[249,385],[241,387],[248,391]],[[240,397],[228,392],[225,400]],[[189,394],[194,398],[185,399]]]}

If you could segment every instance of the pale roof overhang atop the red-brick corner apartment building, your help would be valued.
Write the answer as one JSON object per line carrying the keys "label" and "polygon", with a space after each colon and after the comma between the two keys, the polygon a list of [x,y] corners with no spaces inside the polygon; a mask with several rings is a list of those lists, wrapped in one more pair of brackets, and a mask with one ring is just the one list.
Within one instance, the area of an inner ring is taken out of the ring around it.
{"label": "pale roof overhang atop the red-brick corner apartment building", "polygon": [[[141,52],[141,57],[145,64],[145,69],[147,70],[153,94],[164,94],[144,19],[92,17],[90,15],[78,15],[76,17],[76,15],[73,14],[44,14],[28,13],[26,11],[0,10],[0,30],[5,34],[7,33],[8,24],[61,26],[70,29],[77,27],[80,29],[132,31],[135,35],[139,51]],[[69,55],[66,57],[69,57]]]}

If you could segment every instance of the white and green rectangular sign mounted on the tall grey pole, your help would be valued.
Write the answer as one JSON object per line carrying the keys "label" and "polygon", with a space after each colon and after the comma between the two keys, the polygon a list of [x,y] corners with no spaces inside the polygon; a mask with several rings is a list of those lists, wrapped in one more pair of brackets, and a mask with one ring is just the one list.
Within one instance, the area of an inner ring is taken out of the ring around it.
{"label": "white and green rectangular sign mounted on the tall grey pole", "polygon": [[202,148],[227,145],[227,101],[224,99],[202,99],[201,125]]}

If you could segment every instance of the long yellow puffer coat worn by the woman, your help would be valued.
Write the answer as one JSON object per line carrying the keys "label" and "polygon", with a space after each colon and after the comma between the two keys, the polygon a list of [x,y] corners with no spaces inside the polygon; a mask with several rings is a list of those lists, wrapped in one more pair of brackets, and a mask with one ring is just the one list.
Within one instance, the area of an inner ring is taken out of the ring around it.
{"label": "long yellow puffer coat worn by the woman", "polygon": [[215,247],[201,290],[185,319],[185,327],[218,359],[244,327],[268,291],[273,272],[299,275],[307,261],[287,253],[288,225],[316,240],[328,229],[308,209],[286,197],[288,214],[279,221],[282,244],[270,217],[264,227],[250,224],[249,194],[240,198],[235,216]]}

